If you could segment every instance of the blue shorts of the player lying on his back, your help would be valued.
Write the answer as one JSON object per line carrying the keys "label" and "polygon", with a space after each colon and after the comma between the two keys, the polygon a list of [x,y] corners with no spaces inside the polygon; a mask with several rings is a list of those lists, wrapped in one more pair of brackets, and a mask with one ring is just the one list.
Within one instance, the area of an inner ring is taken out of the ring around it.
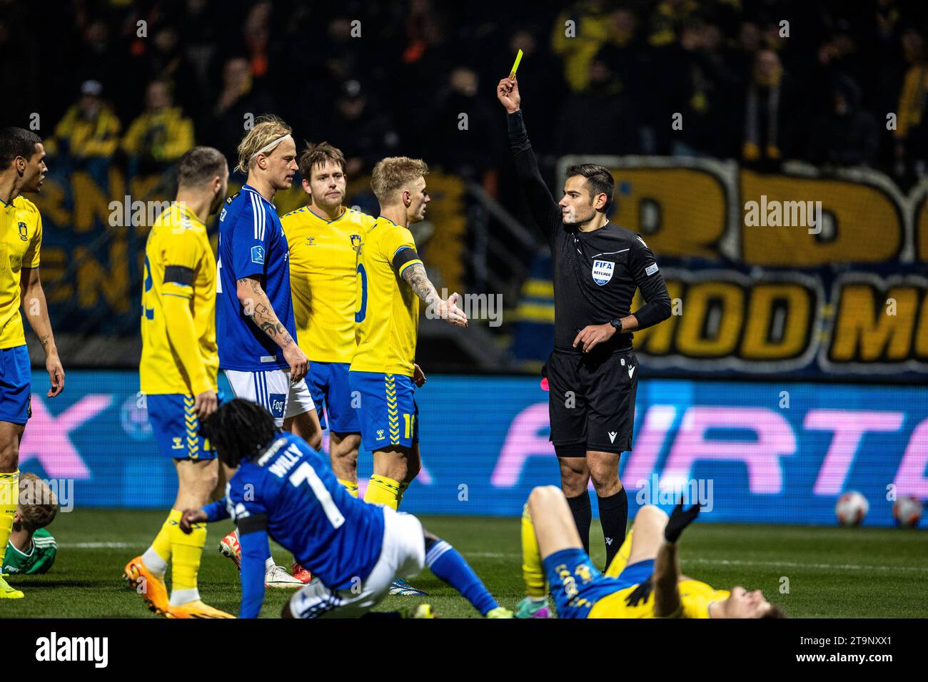
{"label": "blue shorts of the player lying on his back", "polygon": [[599,573],[583,549],[561,549],[544,561],[558,618],[586,618],[599,599],[640,585],[654,573],[654,560],[625,566],[618,577]]}

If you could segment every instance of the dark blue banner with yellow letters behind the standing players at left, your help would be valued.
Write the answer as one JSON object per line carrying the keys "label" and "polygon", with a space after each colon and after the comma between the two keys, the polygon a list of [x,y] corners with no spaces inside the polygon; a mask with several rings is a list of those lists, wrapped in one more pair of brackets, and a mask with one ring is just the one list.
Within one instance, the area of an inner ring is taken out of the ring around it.
{"label": "dark blue banner with yellow letters behind the standing players at left", "polygon": [[[145,241],[174,196],[173,169],[131,175],[106,159],[80,168],[69,167],[64,159],[49,165],[42,193],[29,199],[42,212],[42,283],[55,329],[137,334]],[[241,187],[237,178],[229,181],[229,196]],[[432,173],[429,182],[435,199],[429,220],[442,225],[442,238],[430,241],[430,231],[417,241],[420,251],[428,244],[429,263],[442,274],[445,286],[460,290],[467,232],[465,186],[452,174]],[[299,181],[274,199],[280,215],[306,202]],[[378,212],[369,175],[352,180],[346,203]],[[207,229],[216,251],[217,216],[208,221]]]}

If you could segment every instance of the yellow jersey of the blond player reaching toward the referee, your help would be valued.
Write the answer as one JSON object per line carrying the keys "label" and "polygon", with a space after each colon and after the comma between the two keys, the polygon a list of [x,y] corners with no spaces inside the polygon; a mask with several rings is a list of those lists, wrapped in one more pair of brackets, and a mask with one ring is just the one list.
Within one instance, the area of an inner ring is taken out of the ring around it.
{"label": "yellow jersey of the blond player reaching toward the referee", "polygon": [[416,251],[412,233],[380,216],[362,236],[358,256],[357,348],[351,363],[355,372],[383,372],[412,377],[419,334],[419,297],[406,284],[403,271],[419,258],[405,259],[393,268],[398,251]]}

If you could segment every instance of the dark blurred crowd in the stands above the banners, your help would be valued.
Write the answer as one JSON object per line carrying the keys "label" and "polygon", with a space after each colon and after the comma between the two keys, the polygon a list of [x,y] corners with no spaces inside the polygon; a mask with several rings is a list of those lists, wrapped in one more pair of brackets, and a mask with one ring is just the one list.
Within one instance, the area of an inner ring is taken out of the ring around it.
{"label": "dark blurred crowd in the stands above the banners", "polygon": [[195,142],[232,160],[273,111],[351,174],[404,153],[495,187],[494,88],[521,48],[549,155],[794,159],[907,184],[928,173],[926,17],[917,0],[3,3],[0,77],[9,122],[37,112],[74,163],[147,172]]}

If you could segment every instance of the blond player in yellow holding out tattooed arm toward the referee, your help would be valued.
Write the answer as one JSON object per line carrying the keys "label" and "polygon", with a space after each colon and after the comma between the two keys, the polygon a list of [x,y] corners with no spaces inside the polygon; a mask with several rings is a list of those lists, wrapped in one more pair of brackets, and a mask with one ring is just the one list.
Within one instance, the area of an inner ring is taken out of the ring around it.
{"label": "blond player in yellow holding out tattooed arm toward the referee", "polygon": [[[357,348],[349,372],[357,392],[361,439],[374,455],[364,499],[397,508],[419,473],[419,409],[413,397],[419,301],[456,327],[467,327],[458,294],[443,300],[425,273],[409,225],[425,217],[429,193],[421,159],[391,157],[374,166],[370,185],[380,217],[361,239]],[[392,594],[421,594],[394,585]]]}

